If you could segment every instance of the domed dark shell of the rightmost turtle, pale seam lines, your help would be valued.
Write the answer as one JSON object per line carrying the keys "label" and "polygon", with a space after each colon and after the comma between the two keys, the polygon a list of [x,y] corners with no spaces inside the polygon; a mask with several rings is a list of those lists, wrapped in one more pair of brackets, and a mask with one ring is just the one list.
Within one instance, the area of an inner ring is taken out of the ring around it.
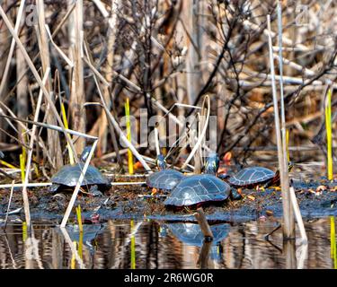
{"label": "domed dark shell of the rightmost turtle, pale seam lines", "polygon": [[275,177],[275,172],[262,167],[252,167],[240,170],[233,177],[229,178],[229,183],[233,186],[244,187],[266,182]]}

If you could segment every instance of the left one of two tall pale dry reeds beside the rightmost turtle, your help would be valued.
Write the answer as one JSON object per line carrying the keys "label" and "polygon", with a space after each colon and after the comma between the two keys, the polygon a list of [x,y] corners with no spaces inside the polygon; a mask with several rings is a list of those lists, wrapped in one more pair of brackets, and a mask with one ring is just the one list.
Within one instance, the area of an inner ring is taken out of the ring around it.
{"label": "left one of two tall pale dry reeds beside the rightmost turtle", "polygon": [[275,132],[276,132],[276,140],[278,145],[278,157],[279,157],[279,174],[281,181],[281,191],[282,191],[282,205],[283,205],[283,236],[285,239],[294,238],[295,232],[295,222],[294,217],[291,210],[290,198],[288,194],[288,190],[286,187],[288,186],[285,182],[285,166],[284,166],[284,158],[283,158],[283,148],[282,148],[282,139],[279,127],[279,105],[278,105],[278,96],[276,91],[276,81],[275,81],[275,68],[274,68],[274,59],[272,57],[272,42],[271,42],[271,28],[270,28],[270,14],[267,15],[267,23],[268,23],[268,44],[269,44],[269,54],[270,54],[270,74],[271,74],[271,82],[272,82],[272,98],[274,104],[274,119],[275,119]]}

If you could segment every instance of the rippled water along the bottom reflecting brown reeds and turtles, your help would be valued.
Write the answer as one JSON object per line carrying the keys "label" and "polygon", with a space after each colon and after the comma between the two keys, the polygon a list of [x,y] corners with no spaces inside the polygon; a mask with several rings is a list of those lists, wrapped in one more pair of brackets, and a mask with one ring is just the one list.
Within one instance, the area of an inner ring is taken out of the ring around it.
{"label": "rippled water along the bottom reflecting brown reeds and turtles", "polygon": [[[0,230],[0,268],[333,268],[334,218],[306,222],[309,243],[282,241],[277,222],[212,225],[204,243],[198,224],[116,222],[59,229],[22,225]],[[297,231],[298,233],[298,231]]]}

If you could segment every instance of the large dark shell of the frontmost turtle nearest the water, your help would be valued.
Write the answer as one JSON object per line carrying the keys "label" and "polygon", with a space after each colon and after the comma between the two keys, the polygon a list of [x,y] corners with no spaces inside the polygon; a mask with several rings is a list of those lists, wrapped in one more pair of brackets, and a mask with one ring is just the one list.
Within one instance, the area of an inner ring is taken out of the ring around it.
{"label": "large dark shell of the frontmost turtle nearest the water", "polygon": [[195,175],[183,179],[164,201],[165,205],[189,206],[204,202],[223,201],[231,188],[221,179],[209,175]]}

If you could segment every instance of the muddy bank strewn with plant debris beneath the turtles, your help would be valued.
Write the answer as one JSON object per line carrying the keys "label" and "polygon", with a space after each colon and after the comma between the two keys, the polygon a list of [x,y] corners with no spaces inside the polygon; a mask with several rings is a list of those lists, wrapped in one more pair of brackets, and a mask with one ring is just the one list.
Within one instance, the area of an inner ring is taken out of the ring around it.
{"label": "muddy bank strewn with plant debris beneath the turtles", "polygon": [[[137,178],[139,180],[141,178]],[[329,182],[294,180],[297,201],[304,218],[317,218],[327,215],[337,215],[337,181]],[[226,222],[252,221],[264,217],[280,217],[282,201],[280,191],[273,188],[265,190],[243,189],[241,200],[227,200],[217,205],[204,207],[208,220]],[[0,222],[4,221],[9,191],[0,191]],[[46,188],[30,190],[31,218],[33,221],[60,222],[66,211],[71,194],[53,196]],[[160,193],[151,196],[147,187],[129,186],[112,187],[102,197],[79,195],[75,206],[81,205],[86,223],[105,222],[109,219],[157,219],[164,221],[195,221],[191,210],[179,212],[167,210],[164,207],[164,196]],[[20,189],[14,192],[10,210],[22,207]],[[11,222],[24,220],[21,210],[9,217]],[[75,222],[75,213],[70,222]]]}

